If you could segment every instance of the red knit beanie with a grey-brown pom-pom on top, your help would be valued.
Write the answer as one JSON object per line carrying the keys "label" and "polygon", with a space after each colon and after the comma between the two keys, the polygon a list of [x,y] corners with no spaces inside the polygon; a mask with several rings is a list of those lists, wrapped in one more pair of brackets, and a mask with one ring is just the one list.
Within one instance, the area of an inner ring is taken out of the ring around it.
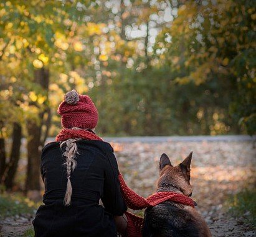
{"label": "red knit beanie with a grey-brown pom-pom on top", "polygon": [[64,96],[58,108],[61,124],[64,128],[95,128],[98,122],[98,111],[88,96],[79,95],[72,90]]}

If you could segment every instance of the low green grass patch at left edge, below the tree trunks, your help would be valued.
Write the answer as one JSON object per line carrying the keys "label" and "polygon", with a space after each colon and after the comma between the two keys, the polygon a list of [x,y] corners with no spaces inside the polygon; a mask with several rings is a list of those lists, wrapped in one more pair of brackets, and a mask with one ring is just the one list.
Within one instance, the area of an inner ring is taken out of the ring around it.
{"label": "low green grass patch at left edge, below the tree trunks", "polygon": [[20,193],[0,194],[0,218],[15,215],[31,214],[39,207],[40,202],[34,202]]}

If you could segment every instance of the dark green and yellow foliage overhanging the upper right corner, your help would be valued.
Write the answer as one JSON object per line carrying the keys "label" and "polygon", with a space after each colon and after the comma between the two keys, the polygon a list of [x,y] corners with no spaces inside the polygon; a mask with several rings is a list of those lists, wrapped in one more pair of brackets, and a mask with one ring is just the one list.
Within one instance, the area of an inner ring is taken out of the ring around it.
{"label": "dark green and yellow foliage overhanging the upper right corner", "polygon": [[[165,35],[171,40],[166,42]],[[224,116],[219,125],[210,125],[216,127],[212,134],[221,127],[223,132],[230,130],[230,125],[234,131],[244,125],[250,135],[256,131],[254,37],[255,6],[246,0],[186,1],[173,25],[158,35],[156,53],[168,49],[159,55],[161,63],[168,61],[183,72],[176,78],[179,84],[205,84],[210,104],[202,103],[202,110]]]}

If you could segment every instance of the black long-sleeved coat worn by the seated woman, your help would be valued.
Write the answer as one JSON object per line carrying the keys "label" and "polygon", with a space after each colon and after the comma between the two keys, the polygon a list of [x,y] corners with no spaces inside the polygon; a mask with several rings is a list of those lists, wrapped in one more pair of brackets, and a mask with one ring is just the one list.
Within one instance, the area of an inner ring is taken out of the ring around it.
{"label": "black long-sleeved coat worn by the seated woman", "polygon": [[[48,143],[42,150],[41,174],[44,205],[32,221],[36,237],[115,236],[113,215],[127,210],[121,197],[118,165],[113,148],[104,141],[77,141],[77,167],[71,173],[71,205],[64,206],[67,169],[65,147]],[[99,205],[102,199],[104,207]]]}

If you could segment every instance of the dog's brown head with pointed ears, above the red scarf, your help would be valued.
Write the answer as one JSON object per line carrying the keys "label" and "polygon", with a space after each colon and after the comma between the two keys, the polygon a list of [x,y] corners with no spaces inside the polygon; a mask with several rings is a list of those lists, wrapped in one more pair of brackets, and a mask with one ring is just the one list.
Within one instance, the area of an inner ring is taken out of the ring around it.
{"label": "dog's brown head with pointed ears, above the red scarf", "polygon": [[186,196],[192,195],[192,186],[190,184],[190,164],[192,152],[178,166],[173,166],[169,157],[162,154],[159,161],[160,177],[157,182],[157,187],[172,186],[175,187]]}

